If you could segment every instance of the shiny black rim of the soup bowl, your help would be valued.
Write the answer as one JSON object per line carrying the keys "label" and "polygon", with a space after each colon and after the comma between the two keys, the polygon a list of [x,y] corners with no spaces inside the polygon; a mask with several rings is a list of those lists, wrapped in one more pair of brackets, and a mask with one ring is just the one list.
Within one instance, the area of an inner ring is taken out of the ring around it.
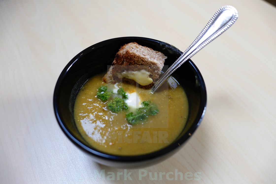
{"label": "shiny black rim of the soup bowl", "polygon": [[164,156],[164,155],[172,152],[173,150],[176,150],[177,148],[183,146],[184,143],[187,142],[187,140],[189,140],[191,135],[195,132],[197,127],[200,125],[200,123],[203,119],[203,116],[205,115],[206,104],[207,104],[207,93],[206,93],[205,82],[204,82],[203,77],[202,77],[200,71],[198,70],[197,66],[192,62],[192,60],[188,60],[189,65],[192,66],[192,69],[194,70],[194,72],[199,76],[199,78],[197,80],[199,81],[200,84],[203,84],[200,86],[201,102],[199,105],[199,110],[198,110],[198,114],[195,118],[195,121],[193,122],[192,126],[188,129],[188,131],[184,135],[182,135],[181,137],[178,138],[177,142],[173,142],[173,143],[169,144],[168,146],[166,146],[160,150],[154,151],[152,153],[147,153],[147,154],[137,155],[137,156],[119,156],[119,155],[112,155],[112,154],[102,153],[100,151],[93,150],[92,148],[81,143],[76,137],[74,137],[70,133],[70,130],[68,130],[65,127],[65,125],[63,124],[63,121],[59,115],[60,108],[59,108],[58,102],[57,102],[58,101],[57,95],[59,94],[60,85],[61,85],[67,71],[82,56],[91,52],[92,50],[97,49],[99,46],[101,46],[103,44],[112,43],[112,42],[115,42],[118,40],[126,40],[127,41],[127,40],[133,40],[133,39],[135,39],[137,41],[141,40],[141,41],[150,41],[150,42],[158,42],[158,43],[162,42],[162,41],[158,41],[156,39],[151,39],[151,38],[128,36],[128,37],[118,37],[118,38],[107,39],[105,41],[101,41],[96,44],[93,44],[92,46],[87,47],[86,49],[79,52],[79,54],[77,54],[75,57],[73,57],[70,60],[70,62],[62,70],[59,78],[57,79],[56,85],[55,85],[54,96],[53,96],[53,105],[54,105],[55,117],[57,119],[57,122],[58,122],[60,128],[62,129],[63,133],[71,140],[72,143],[74,143],[77,147],[81,148],[81,150],[85,151],[86,153],[92,154],[92,156],[97,157],[97,158],[102,158],[105,160],[110,160],[110,161],[115,161],[115,162],[141,162],[141,161],[147,161],[147,160],[156,159],[158,157]]}

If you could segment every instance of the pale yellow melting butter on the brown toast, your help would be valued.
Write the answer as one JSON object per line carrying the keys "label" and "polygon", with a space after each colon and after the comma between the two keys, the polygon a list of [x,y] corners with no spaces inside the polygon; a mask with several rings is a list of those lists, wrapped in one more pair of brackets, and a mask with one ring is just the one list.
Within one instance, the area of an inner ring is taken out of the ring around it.
{"label": "pale yellow melting butter on the brown toast", "polygon": [[150,73],[146,70],[140,71],[124,71],[122,76],[128,79],[132,79],[136,81],[138,84],[142,86],[147,86],[152,83],[152,78],[149,77]]}

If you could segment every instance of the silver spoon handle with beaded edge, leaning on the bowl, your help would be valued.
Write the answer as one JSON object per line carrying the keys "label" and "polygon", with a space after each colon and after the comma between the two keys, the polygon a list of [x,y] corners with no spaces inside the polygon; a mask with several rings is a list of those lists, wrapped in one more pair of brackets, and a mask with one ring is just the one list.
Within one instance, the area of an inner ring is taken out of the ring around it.
{"label": "silver spoon handle with beaded edge, leaning on the bowl", "polygon": [[154,84],[151,93],[154,93],[163,82],[185,61],[191,58],[200,49],[217,38],[227,30],[238,18],[237,10],[232,6],[223,6],[213,15],[193,43],[181,54],[181,56],[168,68],[163,76]]}

